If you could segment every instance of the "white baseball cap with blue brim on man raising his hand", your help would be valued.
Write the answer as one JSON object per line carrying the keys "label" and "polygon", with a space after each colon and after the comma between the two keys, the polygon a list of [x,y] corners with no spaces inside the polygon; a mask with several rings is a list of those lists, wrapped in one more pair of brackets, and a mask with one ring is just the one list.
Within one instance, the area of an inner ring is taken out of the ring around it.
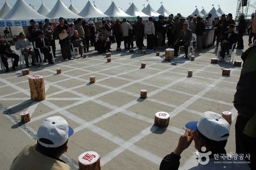
{"label": "white baseball cap with blue brim on man raising his hand", "polygon": [[229,137],[230,125],[219,114],[204,112],[199,121],[188,122],[186,128],[200,132],[211,140],[222,141]]}

